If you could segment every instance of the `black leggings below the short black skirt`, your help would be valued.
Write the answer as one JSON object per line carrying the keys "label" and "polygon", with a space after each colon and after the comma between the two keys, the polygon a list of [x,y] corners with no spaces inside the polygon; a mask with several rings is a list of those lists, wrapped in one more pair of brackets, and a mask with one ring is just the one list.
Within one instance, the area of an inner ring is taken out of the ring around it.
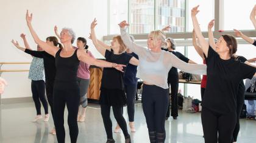
{"label": "black leggings below the short black skirt", "polygon": [[[122,129],[124,137],[129,136],[129,133],[127,131],[126,120],[124,119],[122,113],[123,106],[112,106],[112,108],[116,122],[118,122],[118,125]],[[110,105],[101,104],[101,116],[103,119],[105,131],[107,133],[107,138],[113,139],[112,120],[110,119]]]}

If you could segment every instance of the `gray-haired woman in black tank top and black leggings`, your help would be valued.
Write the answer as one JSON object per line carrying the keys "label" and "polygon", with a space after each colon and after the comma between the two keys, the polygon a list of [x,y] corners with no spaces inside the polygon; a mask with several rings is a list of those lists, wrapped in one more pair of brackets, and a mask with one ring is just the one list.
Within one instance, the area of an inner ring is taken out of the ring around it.
{"label": "gray-haired woman in black tank top and black leggings", "polygon": [[75,34],[72,29],[63,29],[60,33],[60,41],[63,44],[63,49],[50,46],[46,42],[38,38],[35,33],[31,21],[32,14],[29,16],[26,13],[27,26],[32,34],[32,37],[44,51],[55,57],[56,75],[54,83],[54,125],[57,133],[57,141],[65,142],[64,128],[64,111],[65,105],[68,108],[68,126],[71,142],[77,141],[78,126],[77,113],[80,101],[79,86],[77,84],[77,69],[79,61],[96,65],[104,68],[116,68],[123,72],[123,66],[116,63],[110,63],[103,60],[97,60],[88,56],[81,49],[74,49],[72,43],[75,39]]}

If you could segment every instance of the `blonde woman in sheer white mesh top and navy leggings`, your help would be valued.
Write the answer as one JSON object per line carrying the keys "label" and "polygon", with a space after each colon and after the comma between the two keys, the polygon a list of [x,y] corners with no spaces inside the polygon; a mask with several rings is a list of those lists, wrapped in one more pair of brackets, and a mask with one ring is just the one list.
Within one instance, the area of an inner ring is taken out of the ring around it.
{"label": "blonde woman in sheer white mesh top and navy leggings", "polygon": [[167,45],[165,33],[155,30],[149,33],[148,49],[133,43],[126,32],[129,24],[119,23],[121,38],[127,47],[139,57],[137,77],[144,82],[143,112],[148,125],[151,142],[165,142],[165,116],[168,108],[168,72],[174,66],[192,74],[206,74],[205,65],[185,63],[170,52],[162,51]]}

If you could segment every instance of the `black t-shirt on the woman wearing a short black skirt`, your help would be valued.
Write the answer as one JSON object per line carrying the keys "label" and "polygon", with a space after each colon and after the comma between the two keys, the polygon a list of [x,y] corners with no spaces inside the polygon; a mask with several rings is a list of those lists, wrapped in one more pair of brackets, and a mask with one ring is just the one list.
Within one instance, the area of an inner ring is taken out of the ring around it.
{"label": "black t-shirt on the woman wearing a short black skirt", "polygon": [[[113,54],[113,52],[105,51],[106,61],[127,65],[132,58],[132,55],[127,53]],[[124,71],[126,68],[124,68]],[[101,89],[124,89],[124,72],[118,71],[115,68],[104,68],[101,79]]]}

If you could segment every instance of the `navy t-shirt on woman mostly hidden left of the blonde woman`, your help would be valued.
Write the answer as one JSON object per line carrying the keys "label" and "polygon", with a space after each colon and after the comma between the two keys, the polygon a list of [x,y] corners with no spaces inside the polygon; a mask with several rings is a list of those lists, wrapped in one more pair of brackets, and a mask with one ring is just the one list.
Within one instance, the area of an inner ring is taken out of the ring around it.
{"label": "navy t-shirt on woman mostly hidden left of the blonde woman", "polygon": [[[129,54],[129,53],[127,53]],[[138,55],[132,52],[130,55],[138,59]],[[126,73],[124,74],[124,85],[135,84],[138,81],[136,77],[137,74],[137,67],[132,64],[128,64],[126,67]]]}

